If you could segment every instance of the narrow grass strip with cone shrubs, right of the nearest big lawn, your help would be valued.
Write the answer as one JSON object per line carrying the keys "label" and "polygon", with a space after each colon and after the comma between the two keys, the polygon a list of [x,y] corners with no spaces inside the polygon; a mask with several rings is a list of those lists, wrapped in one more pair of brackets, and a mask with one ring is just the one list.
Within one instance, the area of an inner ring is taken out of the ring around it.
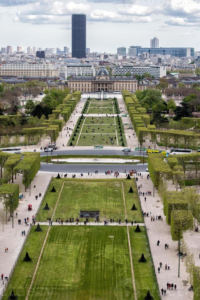
{"label": "narrow grass strip with cone shrubs, right of the nearest big lawn", "polygon": [[[140,229],[141,232],[135,232],[135,228],[129,226],[137,299],[143,300],[149,290],[154,300],[159,300],[160,295],[146,231],[142,226]],[[145,263],[139,262],[142,253],[146,258]]]}

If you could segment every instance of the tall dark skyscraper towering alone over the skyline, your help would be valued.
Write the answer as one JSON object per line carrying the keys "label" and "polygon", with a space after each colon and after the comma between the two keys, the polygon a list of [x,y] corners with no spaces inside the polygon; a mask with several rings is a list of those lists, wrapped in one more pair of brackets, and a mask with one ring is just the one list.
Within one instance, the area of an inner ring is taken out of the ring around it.
{"label": "tall dark skyscraper towering alone over the skyline", "polygon": [[86,15],[72,14],[72,57],[86,58]]}

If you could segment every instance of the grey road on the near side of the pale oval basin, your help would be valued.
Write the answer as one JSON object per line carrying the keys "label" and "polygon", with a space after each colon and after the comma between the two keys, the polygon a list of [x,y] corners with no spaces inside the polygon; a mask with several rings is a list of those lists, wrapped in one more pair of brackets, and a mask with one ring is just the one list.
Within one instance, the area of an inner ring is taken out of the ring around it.
{"label": "grey road on the near side of the pale oval basin", "polygon": [[123,173],[123,170],[129,171],[136,169],[139,172],[145,172],[147,163],[137,165],[123,165],[123,164],[53,164],[53,163],[41,163],[40,171],[45,172],[64,172],[64,173],[94,173],[98,170],[98,173],[105,174],[105,171],[118,171]]}

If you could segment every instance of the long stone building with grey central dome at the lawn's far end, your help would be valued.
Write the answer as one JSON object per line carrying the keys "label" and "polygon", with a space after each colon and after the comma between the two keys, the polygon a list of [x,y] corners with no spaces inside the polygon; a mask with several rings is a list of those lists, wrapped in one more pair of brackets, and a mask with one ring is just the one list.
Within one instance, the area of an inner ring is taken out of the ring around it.
{"label": "long stone building with grey central dome at the lawn's far end", "polygon": [[96,76],[74,76],[68,79],[70,91],[88,92],[121,92],[128,90],[135,92],[138,89],[138,81],[135,76],[110,76],[108,70],[102,67]]}

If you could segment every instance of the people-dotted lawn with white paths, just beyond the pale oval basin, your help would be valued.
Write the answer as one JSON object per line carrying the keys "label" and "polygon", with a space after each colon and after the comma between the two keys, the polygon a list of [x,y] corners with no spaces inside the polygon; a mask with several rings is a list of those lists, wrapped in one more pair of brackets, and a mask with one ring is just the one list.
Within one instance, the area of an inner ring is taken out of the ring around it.
{"label": "people-dotted lawn with white paths, just beyond the pale oval basin", "polygon": [[[113,138],[113,140],[111,139]],[[124,128],[119,117],[85,117],[79,119],[68,145],[78,146],[110,145],[126,146]]]}

